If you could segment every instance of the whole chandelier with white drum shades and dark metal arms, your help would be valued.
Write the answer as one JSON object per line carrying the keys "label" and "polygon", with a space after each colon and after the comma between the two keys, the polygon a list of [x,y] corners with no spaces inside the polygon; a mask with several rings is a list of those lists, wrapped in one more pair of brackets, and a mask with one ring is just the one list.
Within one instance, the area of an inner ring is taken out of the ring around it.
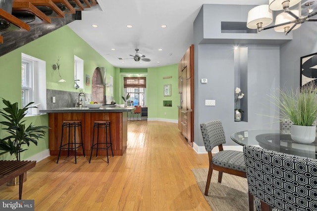
{"label": "whole chandelier with white drum shades and dark metal arms", "polygon": [[[249,29],[258,29],[261,32],[266,29],[272,29],[276,32],[284,32],[288,35],[306,21],[317,21],[311,19],[317,12],[313,12],[311,5],[315,1],[307,1],[304,5],[308,6],[308,15],[301,15],[301,0],[269,0],[268,4],[259,5],[252,8],[248,13],[247,27]],[[290,7],[298,4],[298,9],[290,10]],[[284,10],[276,16],[275,24],[268,26],[273,22],[272,11]]]}

